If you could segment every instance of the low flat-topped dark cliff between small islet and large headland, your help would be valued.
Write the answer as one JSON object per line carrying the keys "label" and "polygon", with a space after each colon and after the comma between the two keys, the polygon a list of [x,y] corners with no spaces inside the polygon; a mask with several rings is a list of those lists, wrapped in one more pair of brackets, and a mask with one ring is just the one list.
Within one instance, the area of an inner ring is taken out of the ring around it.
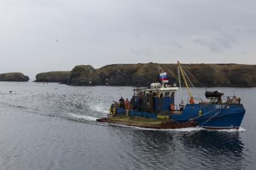
{"label": "low flat-topped dark cliff between small islet and large headland", "polygon": [[35,82],[67,83],[70,71],[42,72],[35,76]]}

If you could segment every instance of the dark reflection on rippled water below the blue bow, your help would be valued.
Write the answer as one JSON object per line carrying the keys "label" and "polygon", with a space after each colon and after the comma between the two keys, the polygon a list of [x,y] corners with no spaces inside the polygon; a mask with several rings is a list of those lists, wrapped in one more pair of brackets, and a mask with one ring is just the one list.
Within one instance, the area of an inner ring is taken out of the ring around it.
{"label": "dark reflection on rippled water below the blue bow", "polygon": [[194,157],[190,159],[191,165],[195,167],[197,163],[202,167],[209,166],[209,168],[242,168],[243,166],[244,144],[239,132],[200,130],[191,134],[186,133],[179,140],[186,150],[195,153],[197,159]]}

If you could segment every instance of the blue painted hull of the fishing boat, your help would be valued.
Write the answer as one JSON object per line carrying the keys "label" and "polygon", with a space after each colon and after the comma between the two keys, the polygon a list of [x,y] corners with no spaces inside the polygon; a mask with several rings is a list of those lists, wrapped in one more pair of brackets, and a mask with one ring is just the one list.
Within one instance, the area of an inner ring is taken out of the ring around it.
{"label": "blue painted hull of the fishing boat", "polygon": [[[200,116],[199,111],[202,111]],[[117,114],[126,114],[123,108],[116,108]],[[242,104],[234,105],[190,105],[187,104],[183,112],[173,114],[171,112],[160,113],[168,115],[176,122],[184,123],[193,119],[199,126],[208,129],[238,129],[242,123],[245,109]],[[129,116],[142,116],[157,119],[159,113],[129,110]]]}

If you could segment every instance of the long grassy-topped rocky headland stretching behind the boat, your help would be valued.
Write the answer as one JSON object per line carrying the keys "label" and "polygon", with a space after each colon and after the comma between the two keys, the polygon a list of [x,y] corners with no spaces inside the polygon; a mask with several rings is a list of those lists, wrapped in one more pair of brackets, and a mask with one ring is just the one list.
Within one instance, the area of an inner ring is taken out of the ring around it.
{"label": "long grassy-topped rocky headland stretching behind the boat", "polygon": [[[186,64],[183,65],[194,77],[188,75],[194,86],[206,87],[255,87],[256,65],[239,64]],[[177,65],[160,64],[160,69],[167,72],[170,84],[177,83]],[[70,72],[67,84],[74,86],[109,85],[109,86],[149,86],[158,82],[158,63],[115,64],[94,69],[90,65],[76,66]],[[200,81],[198,83],[196,81]],[[181,85],[184,84],[181,81]]]}

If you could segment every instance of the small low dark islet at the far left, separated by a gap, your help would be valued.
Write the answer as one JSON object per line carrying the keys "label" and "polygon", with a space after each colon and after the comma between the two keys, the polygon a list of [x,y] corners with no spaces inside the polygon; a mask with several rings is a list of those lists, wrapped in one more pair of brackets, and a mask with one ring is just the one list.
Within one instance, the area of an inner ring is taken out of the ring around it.
{"label": "small low dark islet at the far left, separated by a gap", "polygon": [[28,81],[29,77],[21,72],[8,72],[0,74],[0,81]]}

